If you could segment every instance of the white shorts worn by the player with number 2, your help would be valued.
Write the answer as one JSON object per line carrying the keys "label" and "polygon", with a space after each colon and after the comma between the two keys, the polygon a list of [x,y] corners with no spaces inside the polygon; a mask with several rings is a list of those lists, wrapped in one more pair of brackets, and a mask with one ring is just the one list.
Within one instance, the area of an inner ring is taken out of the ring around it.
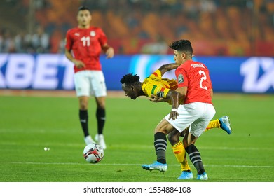
{"label": "white shorts worn by the player with number 2", "polygon": [[208,123],[210,123],[210,120],[212,120],[216,111],[212,104],[194,102],[191,104],[179,105],[178,113],[179,116],[177,116],[176,120],[169,120],[170,114],[165,116],[165,120],[179,132],[182,132],[186,127],[189,127],[189,132],[191,132],[193,136],[199,137],[207,128]]}

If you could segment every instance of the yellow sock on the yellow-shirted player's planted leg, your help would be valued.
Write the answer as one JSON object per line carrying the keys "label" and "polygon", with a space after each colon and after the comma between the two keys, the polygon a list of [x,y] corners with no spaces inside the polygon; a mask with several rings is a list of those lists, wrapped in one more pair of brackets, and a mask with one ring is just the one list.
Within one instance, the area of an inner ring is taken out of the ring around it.
{"label": "yellow sock on the yellow-shirted player's planted leg", "polygon": [[172,146],[172,150],[177,161],[181,165],[181,171],[191,170],[189,163],[186,160],[186,150],[184,149],[183,143],[179,141],[177,144]]}

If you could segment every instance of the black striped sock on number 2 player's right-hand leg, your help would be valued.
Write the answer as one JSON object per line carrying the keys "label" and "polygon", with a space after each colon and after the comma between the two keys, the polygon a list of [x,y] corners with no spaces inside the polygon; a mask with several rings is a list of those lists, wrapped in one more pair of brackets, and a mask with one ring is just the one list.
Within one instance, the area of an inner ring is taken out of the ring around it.
{"label": "black striped sock on number 2 player's right-hand leg", "polygon": [[197,169],[198,174],[203,174],[205,172],[202,158],[200,157],[200,152],[194,146],[194,144],[191,144],[186,147],[186,152],[189,154],[189,159],[193,163],[194,167]]}

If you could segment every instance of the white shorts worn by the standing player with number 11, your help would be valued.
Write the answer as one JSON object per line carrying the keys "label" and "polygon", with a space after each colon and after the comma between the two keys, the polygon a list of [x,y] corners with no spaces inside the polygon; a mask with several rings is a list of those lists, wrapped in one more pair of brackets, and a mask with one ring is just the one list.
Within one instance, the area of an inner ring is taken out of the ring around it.
{"label": "white shorts worn by the standing player with number 11", "polygon": [[107,96],[107,87],[102,71],[78,71],[74,74],[74,85],[77,97]]}

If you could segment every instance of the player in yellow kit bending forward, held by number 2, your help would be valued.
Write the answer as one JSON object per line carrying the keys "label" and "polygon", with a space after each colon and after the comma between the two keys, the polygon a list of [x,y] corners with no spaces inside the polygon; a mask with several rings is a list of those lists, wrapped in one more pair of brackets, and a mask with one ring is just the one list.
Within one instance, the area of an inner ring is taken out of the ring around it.
{"label": "player in yellow kit bending forward, held by number 2", "polygon": [[[166,71],[170,71],[172,69],[176,69],[176,64],[164,64],[160,66],[158,70],[153,72],[151,76],[144,79],[141,83],[139,81],[139,76],[132,75],[131,73],[126,74],[121,79],[122,89],[125,91],[125,96],[130,97],[131,99],[136,99],[139,96],[149,97],[151,101],[155,102],[155,97],[161,97],[163,99],[169,100],[169,104],[172,104],[174,99],[179,99],[177,94],[173,94],[172,92],[177,89],[177,80],[170,80],[167,78],[162,78],[163,74]],[[172,106],[173,108],[173,106]],[[210,121],[207,126],[207,130],[212,128],[221,128],[226,131],[228,134],[231,134],[231,127],[229,123],[228,116],[223,116],[217,120]],[[187,130],[188,128],[186,128]],[[186,151],[182,142],[179,140],[179,137],[184,137],[186,132],[178,132],[177,130],[173,130],[168,134],[167,138],[172,145],[172,150],[177,158],[178,162],[181,165],[181,176],[178,179],[192,179],[193,174],[191,172],[191,168],[186,160]],[[150,167],[149,170],[158,169],[157,167]],[[166,169],[161,170],[165,172]]]}

